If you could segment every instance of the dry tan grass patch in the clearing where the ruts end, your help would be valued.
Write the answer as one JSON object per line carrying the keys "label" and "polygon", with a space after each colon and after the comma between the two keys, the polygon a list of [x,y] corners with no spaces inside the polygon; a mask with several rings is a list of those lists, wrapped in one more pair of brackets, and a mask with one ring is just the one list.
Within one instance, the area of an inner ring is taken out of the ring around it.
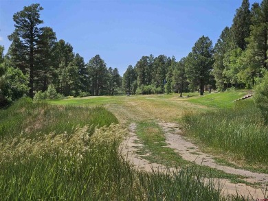
{"label": "dry tan grass patch in the clearing where the ruts end", "polygon": [[122,104],[106,106],[121,123],[161,119],[161,121],[177,121],[186,111],[196,112],[204,106],[196,106],[178,97],[159,99],[153,97],[135,96],[124,99]]}

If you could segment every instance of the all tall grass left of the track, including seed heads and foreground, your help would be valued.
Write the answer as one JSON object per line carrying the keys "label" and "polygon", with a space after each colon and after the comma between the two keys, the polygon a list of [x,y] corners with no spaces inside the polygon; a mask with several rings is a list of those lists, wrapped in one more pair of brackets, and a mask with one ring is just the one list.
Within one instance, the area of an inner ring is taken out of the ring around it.
{"label": "all tall grass left of the track, including seed heads and foreground", "polygon": [[[1,126],[5,125],[0,143],[1,200],[226,200],[221,189],[205,181],[199,167],[152,174],[133,169],[118,152],[125,130],[104,108],[21,99],[0,114]],[[69,128],[77,118],[85,125]],[[58,130],[54,132],[47,128],[52,121],[63,126],[54,127]],[[37,128],[27,130],[36,123]]]}

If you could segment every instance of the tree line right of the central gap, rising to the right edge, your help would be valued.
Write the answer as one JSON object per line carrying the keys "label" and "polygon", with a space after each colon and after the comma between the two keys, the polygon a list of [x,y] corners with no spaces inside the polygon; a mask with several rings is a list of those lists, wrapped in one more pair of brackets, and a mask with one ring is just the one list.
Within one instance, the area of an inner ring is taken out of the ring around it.
{"label": "tree line right of the central gap, rising to the right edge", "polygon": [[225,27],[214,47],[201,36],[178,62],[164,55],[143,56],[129,66],[123,87],[129,93],[181,93],[214,88],[253,88],[268,69],[268,0],[243,0],[231,27]]}

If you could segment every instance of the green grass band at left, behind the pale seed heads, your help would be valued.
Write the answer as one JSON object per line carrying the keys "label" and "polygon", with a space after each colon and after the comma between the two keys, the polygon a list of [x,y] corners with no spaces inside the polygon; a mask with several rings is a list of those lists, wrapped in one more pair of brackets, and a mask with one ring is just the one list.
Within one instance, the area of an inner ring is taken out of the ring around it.
{"label": "green grass band at left, behind the pale seed heads", "polygon": [[33,104],[31,99],[25,98],[10,108],[0,110],[0,137],[15,137],[20,133],[33,136],[38,132],[72,133],[78,125],[102,127],[111,123],[118,123],[118,119],[102,107],[51,106],[45,102]]}

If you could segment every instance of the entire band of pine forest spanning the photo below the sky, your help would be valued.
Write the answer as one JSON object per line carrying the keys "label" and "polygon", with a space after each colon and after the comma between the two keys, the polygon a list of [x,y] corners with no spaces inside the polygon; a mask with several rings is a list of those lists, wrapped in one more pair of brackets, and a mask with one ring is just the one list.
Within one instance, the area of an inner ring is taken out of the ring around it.
{"label": "entire band of pine forest spanning the photo below the sky", "polygon": [[268,0],[249,5],[243,0],[232,26],[225,27],[213,46],[201,36],[185,58],[176,61],[142,56],[123,77],[96,55],[85,63],[71,44],[56,38],[52,27],[42,27],[38,3],[13,16],[12,42],[3,55],[0,45],[1,106],[23,95],[60,96],[182,93],[228,88],[253,88],[267,71]]}

